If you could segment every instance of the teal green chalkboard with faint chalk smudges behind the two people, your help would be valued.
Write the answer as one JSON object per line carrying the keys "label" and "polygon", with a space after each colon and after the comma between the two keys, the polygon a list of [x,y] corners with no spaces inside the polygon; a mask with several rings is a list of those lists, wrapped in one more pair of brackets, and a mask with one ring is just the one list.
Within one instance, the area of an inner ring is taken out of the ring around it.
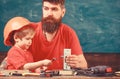
{"label": "teal green chalkboard with faint chalk smudges behind the two people", "polygon": [[[41,19],[41,0],[0,0],[0,51],[6,22],[15,16]],[[120,0],[66,0],[63,22],[77,33],[84,52],[120,53]]]}

